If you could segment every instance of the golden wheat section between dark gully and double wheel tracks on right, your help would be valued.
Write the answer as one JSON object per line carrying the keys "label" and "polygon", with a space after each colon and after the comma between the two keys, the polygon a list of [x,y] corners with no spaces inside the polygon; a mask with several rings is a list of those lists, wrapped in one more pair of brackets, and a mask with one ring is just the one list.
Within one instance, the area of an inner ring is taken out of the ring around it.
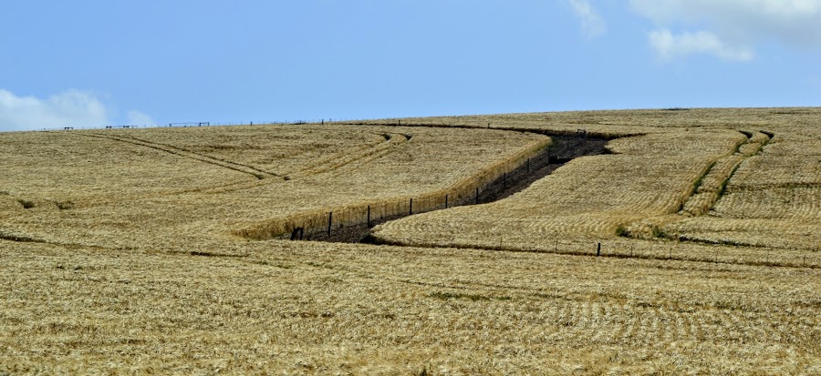
{"label": "golden wheat section between dark gully and double wheel tracks on right", "polygon": [[459,238],[451,245],[466,247],[489,247],[500,237],[508,245],[522,239],[518,247],[556,237],[610,239],[620,228],[648,236],[684,208],[694,182],[744,138],[709,130],[620,138],[608,144],[616,154],[573,160],[512,198],[403,218],[377,235],[419,245]]}

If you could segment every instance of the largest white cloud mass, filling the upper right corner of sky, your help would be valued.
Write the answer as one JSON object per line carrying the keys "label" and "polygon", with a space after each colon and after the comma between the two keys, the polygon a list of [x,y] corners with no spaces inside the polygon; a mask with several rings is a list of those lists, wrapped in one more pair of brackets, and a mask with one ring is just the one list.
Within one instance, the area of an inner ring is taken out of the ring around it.
{"label": "largest white cloud mass, filling the upper right corner of sky", "polygon": [[650,46],[662,58],[711,54],[746,61],[753,46],[776,41],[821,48],[821,1],[817,0],[630,0],[657,29]]}

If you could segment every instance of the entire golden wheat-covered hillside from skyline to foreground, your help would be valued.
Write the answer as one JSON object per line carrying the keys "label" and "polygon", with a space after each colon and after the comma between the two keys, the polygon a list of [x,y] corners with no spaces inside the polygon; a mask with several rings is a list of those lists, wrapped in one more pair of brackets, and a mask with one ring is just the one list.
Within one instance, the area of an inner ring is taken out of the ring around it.
{"label": "entire golden wheat-covered hillside from skyline to foreground", "polygon": [[819,374],[819,122],[0,133],[0,374]]}

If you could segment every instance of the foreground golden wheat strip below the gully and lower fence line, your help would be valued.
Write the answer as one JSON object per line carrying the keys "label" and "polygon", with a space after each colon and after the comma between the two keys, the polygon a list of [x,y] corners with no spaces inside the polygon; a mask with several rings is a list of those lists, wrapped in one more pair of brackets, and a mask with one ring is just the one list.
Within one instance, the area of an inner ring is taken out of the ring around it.
{"label": "foreground golden wheat strip below the gully and lower fence line", "polygon": [[812,269],[278,240],[0,252],[0,372],[821,371]]}

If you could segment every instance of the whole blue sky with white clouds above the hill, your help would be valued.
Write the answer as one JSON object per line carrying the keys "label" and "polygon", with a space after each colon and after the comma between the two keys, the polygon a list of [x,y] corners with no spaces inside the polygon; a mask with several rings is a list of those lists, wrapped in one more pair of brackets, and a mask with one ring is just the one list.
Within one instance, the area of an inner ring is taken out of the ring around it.
{"label": "whole blue sky with white clouds above the hill", "polygon": [[0,130],[821,106],[821,1],[5,1]]}

